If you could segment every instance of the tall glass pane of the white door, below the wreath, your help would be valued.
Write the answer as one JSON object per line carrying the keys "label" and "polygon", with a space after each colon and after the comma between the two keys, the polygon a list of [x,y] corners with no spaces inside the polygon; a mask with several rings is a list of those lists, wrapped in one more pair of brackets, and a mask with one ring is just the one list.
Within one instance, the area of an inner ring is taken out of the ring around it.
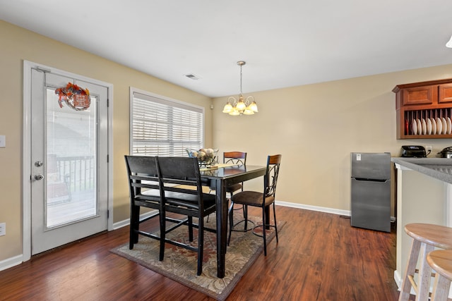
{"label": "tall glass pane of the white door, below the wreath", "polygon": [[47,89],[46,225],[62,226],[97,215],[96,99],[85,111],[60,108]]}

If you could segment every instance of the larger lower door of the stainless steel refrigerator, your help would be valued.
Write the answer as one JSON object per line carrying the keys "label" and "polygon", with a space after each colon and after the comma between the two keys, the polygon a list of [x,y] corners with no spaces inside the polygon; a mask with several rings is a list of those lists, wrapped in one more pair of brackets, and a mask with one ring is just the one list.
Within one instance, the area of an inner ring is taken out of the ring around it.
{"label": "larger lower door of the stainless steel refrigerator", "polygon": [[352,178],[351,225],[391,232],[391,180]]}

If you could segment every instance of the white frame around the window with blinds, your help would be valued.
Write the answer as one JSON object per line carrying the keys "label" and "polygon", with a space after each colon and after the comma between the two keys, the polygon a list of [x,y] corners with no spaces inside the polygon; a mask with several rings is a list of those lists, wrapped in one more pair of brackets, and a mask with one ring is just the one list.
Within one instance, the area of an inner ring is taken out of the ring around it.
{"label": "white frame around the window with blinds", "polygon": [[[139,97],[141,96],[141,97]],[[181,100],[177,100],[177,99],[172,99],[169,97],[165,97],[162,96],[160,94],[155,94],[153,92],[148,92],[148,91],[144,91],[144,90],[139,90],[137,88],[134,87],[130,87],[130,96],[129,96],[129,154],[131,155],[146,155],[146,154],[134,154],[133,153],[133,142],[135,140],[133,140],[133,102],[134,102],[134,98],[138,98],[138,99],[143,99],[143,100],[148,100],[150,102],[155,102],[158,104],[164,104],[167,106],[172,106],[174,108],[179,108],[179,109],[188,109],[191,111],[196,111],[198,113],[201,113],[201,128],[200,131],[201,133],[199,133],[201,135],[201,145],[199,145],[199,148],[203,147],[204,145],[204,141],[205,141],[205,127],[206,127],[206,109],[203,106],[197,106],[196,104],[191,104],[189,102],[183,102]],[[162,155],[165,156],[166,154],[155,154],[155,155]]]}

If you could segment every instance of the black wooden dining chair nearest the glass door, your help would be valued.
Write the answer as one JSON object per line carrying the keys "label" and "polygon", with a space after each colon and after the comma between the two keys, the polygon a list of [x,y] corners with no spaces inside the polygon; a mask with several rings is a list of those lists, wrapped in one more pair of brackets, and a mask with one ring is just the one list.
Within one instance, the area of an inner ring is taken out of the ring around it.
{"label": "black wooden dining chair nearest the glass door", "polygon": [[[129,249],[138,242],[138,234],[160,240],[160,235],[140,230],[140,223],[160,216],[160,185],[155,156],[125,156],[130,191],[130,238]],[[147,207],[157,210],[140,221],[140,209]],[[160,233],[165,233],[165,223],[160,220]],[[164,243],[160,242],[160,260],[162,260]]]}

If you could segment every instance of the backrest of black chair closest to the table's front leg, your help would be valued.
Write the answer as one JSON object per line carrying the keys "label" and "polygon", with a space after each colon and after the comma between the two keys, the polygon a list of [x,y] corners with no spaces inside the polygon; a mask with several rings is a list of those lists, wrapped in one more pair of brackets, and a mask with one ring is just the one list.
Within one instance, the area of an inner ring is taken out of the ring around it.
{"label": "backrest of black chair closest to the table's front leg", "polygon": [[[203,188],[196,157],[159,156],[160,193],[166,199],[189,200],[189,207],[203,208]],[[184,197],[185,195],[185,197]]]}

